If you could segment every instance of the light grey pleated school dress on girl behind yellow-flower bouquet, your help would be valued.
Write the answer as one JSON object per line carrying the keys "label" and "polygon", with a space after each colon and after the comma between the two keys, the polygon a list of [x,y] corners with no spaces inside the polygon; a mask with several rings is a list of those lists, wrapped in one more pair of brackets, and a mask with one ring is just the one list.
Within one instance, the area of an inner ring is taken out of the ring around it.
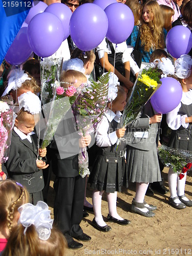
{"label": "light grey pleated school dress on girl behind yellow-flower bouquet", "polygon": [[126,166],[128,180],[138,183],[161,181],[157,156],[158,123],[149,124],[154,115],[147,102],[137,118],[127,127]]}

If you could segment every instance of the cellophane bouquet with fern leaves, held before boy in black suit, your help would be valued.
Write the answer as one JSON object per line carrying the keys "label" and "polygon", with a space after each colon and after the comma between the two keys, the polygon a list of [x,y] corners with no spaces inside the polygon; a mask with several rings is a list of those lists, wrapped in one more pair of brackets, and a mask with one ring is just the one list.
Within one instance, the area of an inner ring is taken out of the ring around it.
{"label": "cellophane bouquet with fern leaves, held before boy in black suit", "polygon": [[[108,102],[110,73],[105,73],[97,82],[91,81],[82,89],[74,104],[73,114],[76,120],[77,130],[80,136],[86,136],[94,132],[100,122]],[[87,148],[81,148],[78,154],[79,175],[85,177],[90,174]]]}

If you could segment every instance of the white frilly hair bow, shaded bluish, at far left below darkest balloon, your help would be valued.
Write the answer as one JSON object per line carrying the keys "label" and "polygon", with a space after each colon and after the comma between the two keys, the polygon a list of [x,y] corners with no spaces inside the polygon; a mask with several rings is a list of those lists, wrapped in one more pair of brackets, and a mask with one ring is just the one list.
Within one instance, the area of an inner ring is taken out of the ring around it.
{"label": "white frilly hair bow, shaded bluish, at far left below darkest balloon", "polygon": [[26,80],[31,80],[28,74],[24,72],[25,72],[24,70],[18,70],[18,69],[14,69],[11,71],[9,81],[8,81],[8,86],[5,89],[2,96],[5,96],[11,90],[16,90],[17,88],[20,88],[22,86],[22,83],[24,83]]}

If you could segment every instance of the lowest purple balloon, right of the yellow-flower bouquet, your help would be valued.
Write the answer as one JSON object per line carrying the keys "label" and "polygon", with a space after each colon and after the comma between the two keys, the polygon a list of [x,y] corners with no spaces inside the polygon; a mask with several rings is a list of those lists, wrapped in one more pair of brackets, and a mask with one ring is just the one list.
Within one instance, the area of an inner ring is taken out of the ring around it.
{"label": "lowest purple balloon, right of the yellow-flower bouquet", "polygon": [[151,97],[153,109],[160,114],[174,110],[182,98],[181,84],[172,77],[163,77],[160,88]]}

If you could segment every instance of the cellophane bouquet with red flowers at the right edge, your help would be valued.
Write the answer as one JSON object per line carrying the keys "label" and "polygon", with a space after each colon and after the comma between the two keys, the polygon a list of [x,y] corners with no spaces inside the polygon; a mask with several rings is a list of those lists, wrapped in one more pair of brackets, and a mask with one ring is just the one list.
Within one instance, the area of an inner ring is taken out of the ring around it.
{"label": "cellophane bouquet with red flowers at the right edge", "polygon": [[180,180],[192,166],[192,152],[190,151],[160,145],[158,155],[161,162],[170,167]]}

